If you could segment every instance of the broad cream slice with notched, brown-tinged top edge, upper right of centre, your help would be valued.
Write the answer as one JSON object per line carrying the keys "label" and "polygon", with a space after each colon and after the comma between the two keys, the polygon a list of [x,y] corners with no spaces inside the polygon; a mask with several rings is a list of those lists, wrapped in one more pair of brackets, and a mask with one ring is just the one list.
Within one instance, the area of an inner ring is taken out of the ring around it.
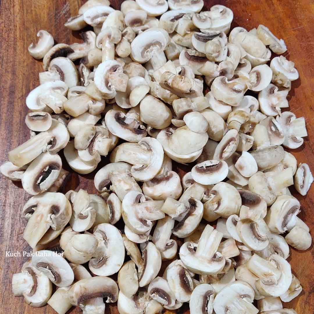
{"label": "broad cream slice with notched, brown-tinged top edge, upper right of centre", "polygon": [[240,104],[246,89],[247,86],[241,79],[235,78],[228,81],[228,78],[225,76],[215,78],[211,86],[214,97],[231,106],[238,106]]}

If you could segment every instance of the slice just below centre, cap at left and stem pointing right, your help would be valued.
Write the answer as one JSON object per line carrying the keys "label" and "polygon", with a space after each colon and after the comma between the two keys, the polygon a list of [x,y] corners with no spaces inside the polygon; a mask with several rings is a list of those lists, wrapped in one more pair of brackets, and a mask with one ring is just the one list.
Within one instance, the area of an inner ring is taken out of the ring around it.
{"label": "slice just below centre, cap at left and stem pointing right", "polygon": [[152,227],[152,221],[162,219],[160,210],[163,201],[152,201],[141,192],[130,191],[122,201],[122,217],[126,226],[137,234],[143,234]]}

